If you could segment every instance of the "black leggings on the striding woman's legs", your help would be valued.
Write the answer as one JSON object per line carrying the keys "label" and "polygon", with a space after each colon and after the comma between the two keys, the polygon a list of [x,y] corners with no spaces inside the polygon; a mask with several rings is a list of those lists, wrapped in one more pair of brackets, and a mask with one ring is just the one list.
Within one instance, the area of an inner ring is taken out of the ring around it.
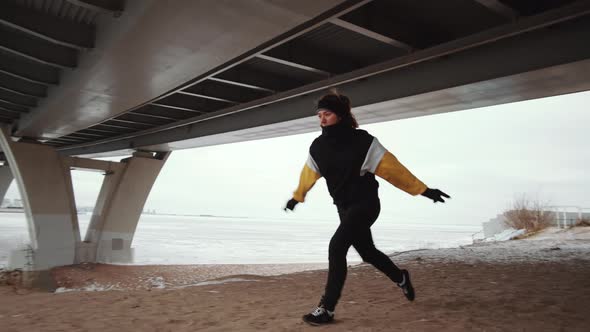
{"label": "black leggings on the striding woman's legs", "polygon": [[371,226],[380,211],[379,200],[338,206],[340,226],[330,240],[328,282],[323,298],[327,310],[334,311],[342,293],[346,280],[346,254],[350,246],[356,249],[363,261],[376,267],[392,281],[401,282],[400,269],[373,243]]}

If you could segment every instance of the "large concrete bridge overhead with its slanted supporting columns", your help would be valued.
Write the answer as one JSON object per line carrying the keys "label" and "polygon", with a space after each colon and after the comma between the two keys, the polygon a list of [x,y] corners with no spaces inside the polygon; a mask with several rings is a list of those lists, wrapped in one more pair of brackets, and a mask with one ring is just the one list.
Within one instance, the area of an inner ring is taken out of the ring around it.
{"label": "large concrete bridge overhead with its slanted supporting columns", "polygon": [[[15,179],[31,235],[12,261],[130,261],[170,151],[315,130],[329,87],[362,124],[585,91],[589,39],[586,0],[2,1],[0,196]],[[105,174],[84,236],[71,169]]]}

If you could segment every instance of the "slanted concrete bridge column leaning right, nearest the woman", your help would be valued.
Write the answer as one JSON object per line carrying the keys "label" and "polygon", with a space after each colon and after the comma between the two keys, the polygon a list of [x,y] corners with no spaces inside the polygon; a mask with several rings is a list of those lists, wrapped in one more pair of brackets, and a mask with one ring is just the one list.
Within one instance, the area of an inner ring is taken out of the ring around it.
{"label": "slanted concrete bridge column leaning right, nearest the woman", "polygon": [[139,217],[169,155],[136,152],[105,173],[79,261],[133,261],[131,242]]}

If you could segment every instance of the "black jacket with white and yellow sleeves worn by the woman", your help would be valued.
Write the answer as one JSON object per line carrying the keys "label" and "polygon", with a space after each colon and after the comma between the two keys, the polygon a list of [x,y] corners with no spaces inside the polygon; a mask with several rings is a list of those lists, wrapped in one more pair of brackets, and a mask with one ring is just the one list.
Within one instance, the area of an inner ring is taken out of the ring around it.
{"label": "black jacket with white and yellow sleeves worn by the woman", "polygon": [[376,200],[379,183],[375,175],[411,195],[426,190],[426,185],[377,138],[340,122],[322,128],[322,135],[311,144],[293,199],[303,202],[307,192],[323,176],[336,205]]}

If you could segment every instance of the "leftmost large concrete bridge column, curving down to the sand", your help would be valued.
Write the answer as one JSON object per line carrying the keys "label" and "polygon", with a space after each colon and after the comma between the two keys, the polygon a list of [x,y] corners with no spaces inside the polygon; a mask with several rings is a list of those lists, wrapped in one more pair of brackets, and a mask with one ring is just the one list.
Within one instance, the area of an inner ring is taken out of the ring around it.
{"label": "leftmost large concrete bridge column, curving down to the sand", "polygon": [[18,184],[31,240],[30,250],[11,255],[9,267],[43,271],[74,263],[80,231],[69,167],[52,147],[13,142],[6,127],[0,146]]}

